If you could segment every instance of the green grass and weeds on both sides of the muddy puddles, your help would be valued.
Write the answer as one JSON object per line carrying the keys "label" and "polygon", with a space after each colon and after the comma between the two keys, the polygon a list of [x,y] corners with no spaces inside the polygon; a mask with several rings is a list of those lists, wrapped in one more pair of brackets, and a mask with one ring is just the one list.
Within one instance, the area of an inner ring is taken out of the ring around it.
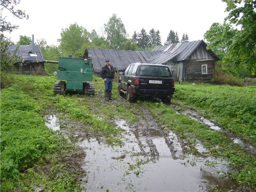
{"label": "green grass and weeds on both sides of the muddy puddles", "polygon": [[[137,120],[137,104],[126,102],[114,83],[114,106],[105,105],[101,98],[80,94],[54,96],[54,76],[14,75],[10,86],[1,90],[1,191],[80,191],[81,169],[70,171],[64,166],[67,154],[79,149],[66,138],[44,124],[43,116],[55,108],[72,120],[88,124],[88,130],[106,137],[110,145],[122,145],[111,120]],[[94,76],[96,94],[103,95],[102,79]],[[81,100],[82,98],[82,100]],[[86,98],[86,99],[84,99]],[[256,87],[231,87],[209,84],[176,84],[173,102],[198,110],[222,128],[256,144]],[[237,170],[233,177],[241,184],[256,188],[256,159],[233,144],[221,132],[210,129],[185,115],[176,114],[171,106],[158,102],[138,101],[177,136],[193,146],[200,140],[210,149],[209,155],[225,158]],[[108,114],[108,116],[104,116]],[[216,146],[219,148],[216,149]],[[188,153],[195,153],[188,148]]]}

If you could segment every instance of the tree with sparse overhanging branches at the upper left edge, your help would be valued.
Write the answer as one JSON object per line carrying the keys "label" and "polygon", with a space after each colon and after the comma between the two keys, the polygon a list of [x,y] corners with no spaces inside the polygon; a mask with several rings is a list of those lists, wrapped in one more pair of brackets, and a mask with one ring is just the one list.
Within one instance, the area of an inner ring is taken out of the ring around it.
{"label": "tree with sparse overhanging branches at the upper left edge", "polygon": [[[0,0],[0,6],[1,6],[1,13],[3,10],[8,10],[12,13],[13,16],[16,18],[25,18],[28,19],[28,15],[25,11],[16,9],[16,6],[20,3],[20,1],[17,0]],[[10,22],[6,20],[5,16],[0,16],[0,70],[1,72],[4,71],[10,71],[14,68],[14,63],[16,62],[17,56],[14,54],[12,57],[10,57],[10,54],[8,53],[8,47],[12,42],[8,38],[4,36],[4,32],[11,33],[14,29],[17,29],[17,25],[12,25]],[[1,75],[1,81],[2,81],[2,75]],[[3,83],[3,82],[2,82]],[[1,83],[1,86],[2,86]]]}

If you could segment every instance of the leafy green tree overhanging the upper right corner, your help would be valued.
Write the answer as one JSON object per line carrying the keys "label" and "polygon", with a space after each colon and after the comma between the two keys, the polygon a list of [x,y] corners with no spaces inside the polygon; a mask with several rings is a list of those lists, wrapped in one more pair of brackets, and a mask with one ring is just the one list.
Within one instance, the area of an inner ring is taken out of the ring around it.
{"label": "leafy green tree overhanging the upper right corner", "polygon": [[[220,29],[221,40],[227,44],[226,56],[233,66],[243,66],[252,75],[256,75],[256,1],[247,0],[224,0],[226,2],[226,12],[223,25],[212,24],[206,33],[214,35],[215,27]],[[239,26],[240,29],[234,30],[232,26]],[[216,41],[209,42],[209,47]]]}

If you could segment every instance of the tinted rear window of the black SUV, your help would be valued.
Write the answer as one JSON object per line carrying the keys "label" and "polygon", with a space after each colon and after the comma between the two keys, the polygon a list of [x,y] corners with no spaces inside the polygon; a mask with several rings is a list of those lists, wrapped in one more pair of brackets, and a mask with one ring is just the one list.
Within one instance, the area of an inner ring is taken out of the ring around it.
{"label": "tinted rear window of the black SUV", "polygon": [[167,76],[172,77],[172,74],[166,66],[148,66],[144,65],[140,68],[140,75],[142,76]]}

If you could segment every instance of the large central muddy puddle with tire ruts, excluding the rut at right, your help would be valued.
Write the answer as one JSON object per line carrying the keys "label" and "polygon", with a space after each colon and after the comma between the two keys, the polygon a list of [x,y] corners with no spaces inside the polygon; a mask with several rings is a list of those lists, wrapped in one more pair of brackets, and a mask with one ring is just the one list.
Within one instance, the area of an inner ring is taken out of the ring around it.
{"label": "large central muddy puddle with tire ruts, excluding the rut at right", "polygon": [[227,172],[221,162],[218,168],[210,168],[204,165],[205,159],[177,157],[176,145],[182,144],[176,134],[163,130],[146,106],[135,105],[142,111],[137,113],[137,122],[109,119],[125,130],[121,135],[124,146],[109,146],[104,135],[85,129],[86,123],[61,118],[60,132],[67,134],[85,154],[80,159],[81,168],[86,171],[81,182],[85,191],[199,191],[208,186],[232,187],[229,178],[220,180],[218,174],[212,174]]}

